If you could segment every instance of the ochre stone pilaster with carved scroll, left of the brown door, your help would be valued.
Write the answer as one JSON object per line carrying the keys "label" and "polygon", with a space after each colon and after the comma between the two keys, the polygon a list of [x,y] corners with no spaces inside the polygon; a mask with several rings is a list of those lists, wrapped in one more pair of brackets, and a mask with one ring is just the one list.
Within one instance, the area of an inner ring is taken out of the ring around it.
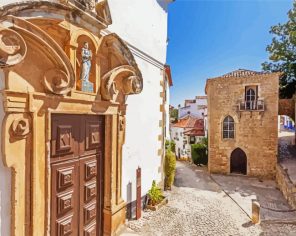
{"label": "ochre stone pilaster with carved scroll, left of the brown door", "polygon": [[30,166],[30,116],[27,113],[6,114],[2,124],[2,154],[3,163],[12,168],[12,212],[11,235],[25,236],[28,230],[26,216],[29,206],[26,204],[26,196],[30,186],[27,168]]}

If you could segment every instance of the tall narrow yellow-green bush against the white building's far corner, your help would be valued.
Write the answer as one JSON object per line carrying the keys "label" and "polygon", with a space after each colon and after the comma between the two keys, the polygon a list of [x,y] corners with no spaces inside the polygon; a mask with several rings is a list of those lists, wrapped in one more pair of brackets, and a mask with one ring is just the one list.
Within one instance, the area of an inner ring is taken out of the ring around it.
{"label": "tall narrow yellow-green bush against the white building's far corner", "polygon": [[172,184],[175,179],[176,171],[176,156],[172,151],[167,151],[165,154],[165,163],[164,163],[164,188],[171,189]]}

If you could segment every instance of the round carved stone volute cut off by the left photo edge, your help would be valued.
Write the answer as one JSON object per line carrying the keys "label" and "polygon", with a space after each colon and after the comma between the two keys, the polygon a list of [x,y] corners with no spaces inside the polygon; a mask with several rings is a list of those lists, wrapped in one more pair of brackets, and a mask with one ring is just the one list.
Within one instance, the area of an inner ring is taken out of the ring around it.
{"label": "round carved stone volute cut off by the left photo edge", "polygon": [[26,53],[27,46],[23,37],[13,30],[0,27],[0,67],[20,63]]}

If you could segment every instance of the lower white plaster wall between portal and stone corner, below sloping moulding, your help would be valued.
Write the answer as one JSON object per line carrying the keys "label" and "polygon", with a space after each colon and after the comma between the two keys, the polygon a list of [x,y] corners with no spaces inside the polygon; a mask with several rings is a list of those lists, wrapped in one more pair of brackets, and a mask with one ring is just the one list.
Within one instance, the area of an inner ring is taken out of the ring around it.
{"label": "lower white plaster wall between portal and stone corner, below sloping moulding", "polygon": [[[127,100],[126,140],[123,146],[122,196],[127,202],[136,199],[136,169],[142,168],[142,195],[150,189],[152,180],[161,181],[161,157],[158,149],[161,142],[159,121],[162,113],[159,106],[162,78],[160,69],[147,62],[137,60],[144,77],[141,94],[129,96]],[[131,183],[132,194],[129,191]]]}

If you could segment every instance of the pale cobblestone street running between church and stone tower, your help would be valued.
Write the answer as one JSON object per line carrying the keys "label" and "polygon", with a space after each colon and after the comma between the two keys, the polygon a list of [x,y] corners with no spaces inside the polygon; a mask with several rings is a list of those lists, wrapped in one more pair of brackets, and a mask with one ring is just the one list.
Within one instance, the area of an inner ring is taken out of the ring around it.
{"label": "pale cobblestone street running between church and stone tower", "polygon": [[250,223],[248,214],[202,168],[177,163],[169,203],[129,221],[122,235],[296,235],[296,226]]}

